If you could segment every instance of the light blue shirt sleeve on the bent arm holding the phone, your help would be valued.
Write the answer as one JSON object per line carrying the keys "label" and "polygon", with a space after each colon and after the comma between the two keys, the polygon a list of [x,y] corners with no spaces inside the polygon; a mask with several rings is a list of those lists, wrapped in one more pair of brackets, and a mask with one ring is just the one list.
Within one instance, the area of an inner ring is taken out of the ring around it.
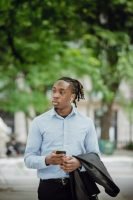
{"label": "light blue shirt sleeve on the bent arm holding the phone", "polygon": [[24,162],[28,168],[43,169],[46,168],[45,157],[46,155],[40,154],[40,148],[42,144],[42,135],[37,125],[36,120],[31,123],[25,154]]}

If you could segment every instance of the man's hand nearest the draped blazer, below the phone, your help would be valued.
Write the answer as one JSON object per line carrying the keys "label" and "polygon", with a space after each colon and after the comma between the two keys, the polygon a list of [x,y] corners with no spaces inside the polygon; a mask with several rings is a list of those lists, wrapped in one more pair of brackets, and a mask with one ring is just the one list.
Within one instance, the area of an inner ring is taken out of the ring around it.
{"label": "man's hand nearest the draped blazer, below the phone", "polygon": [[63,169],[65,172],[72,172],[80,166],[81,163],[79,160],[72,156],[65,156],[63,158],[63,163],[60,165],[61,169]]}

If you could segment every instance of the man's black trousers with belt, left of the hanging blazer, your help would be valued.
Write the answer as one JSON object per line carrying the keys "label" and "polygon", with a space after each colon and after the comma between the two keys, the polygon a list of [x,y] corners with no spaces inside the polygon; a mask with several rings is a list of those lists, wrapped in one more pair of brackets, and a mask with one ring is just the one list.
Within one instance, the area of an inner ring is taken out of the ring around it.
{"label": "man's black trousers with belt, left of the hanging blazer", "polygon": [[63,185],[61,182],[40,180],[38,187],[39,200],[72,200],[70,182]]}

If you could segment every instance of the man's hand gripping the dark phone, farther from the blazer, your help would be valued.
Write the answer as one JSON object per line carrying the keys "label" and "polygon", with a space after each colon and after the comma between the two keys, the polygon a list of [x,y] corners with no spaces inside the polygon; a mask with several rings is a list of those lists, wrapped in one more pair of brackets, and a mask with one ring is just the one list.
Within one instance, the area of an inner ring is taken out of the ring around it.
{"label": "man's hand gripping the dark phone, farther from the blazer", "polygon": [[45,163],[46,165],[62,165],[64,156],[64,154],[56,154],[56,151],[53,151],[46,156]]}

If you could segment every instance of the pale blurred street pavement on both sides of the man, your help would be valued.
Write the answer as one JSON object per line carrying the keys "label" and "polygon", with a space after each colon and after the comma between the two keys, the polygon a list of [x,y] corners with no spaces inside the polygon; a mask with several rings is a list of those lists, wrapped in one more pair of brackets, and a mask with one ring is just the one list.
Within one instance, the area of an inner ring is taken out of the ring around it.
{"label": "pale blurred street pavement on both sides of the man", "polygon": [[[133,154],[102,156],[102,161],[120,188],[113,198],[99,186],[100,200],[133,199]],[[0,159],[0,200],[37,200],[38,179],[36,170],[27,169],[23,158]]]}

